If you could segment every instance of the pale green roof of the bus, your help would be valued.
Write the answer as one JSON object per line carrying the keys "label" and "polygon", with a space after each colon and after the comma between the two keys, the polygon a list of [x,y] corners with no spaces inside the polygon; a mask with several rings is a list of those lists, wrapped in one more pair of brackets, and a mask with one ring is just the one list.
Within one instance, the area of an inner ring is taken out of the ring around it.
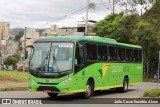
{"label": "pale green roof of the bus", "polygon": [[72,41],[72,42],[87,41],[94,43],[104,43],[108,45],[142,48],[139,45],[120,43],[117,42],[115,39],[104,38],[99,36],[47,36],[47,37],[40,37],[35,40],[35,42],[40,42],[40,41]]}

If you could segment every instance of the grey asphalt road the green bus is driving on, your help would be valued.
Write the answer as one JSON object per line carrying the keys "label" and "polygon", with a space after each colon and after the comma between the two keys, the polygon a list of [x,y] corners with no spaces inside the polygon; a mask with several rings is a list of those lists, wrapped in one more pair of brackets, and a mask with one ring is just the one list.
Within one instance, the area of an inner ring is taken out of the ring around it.
{"label": "grey asphalt road the green bus is driving on", "polygon": [[[135,86],[130,86],[127,93],[118,93],[118,92],[115,92],[114,90],[98,91],[98,92],[95,92],[95,95],[91,99],[87,99],[87,100],[81,99],[79,98],[79,96],[73,95],[73,94],[67,94],[67,95],[61,94],[56,99],[51,99],[48,97],[46,93],[28,92],[28,91],[8,91],[8,92],[3,91],[3,92],[0,92],[0,98],[39,98],[40,100],[49,101],[54,104],[58,103],[56,104],[56,106],[58,107],[61,104],[63,104],[61,105],[62,107],[63,106],[71,107],[71,106],[74,106],[75,104],[77,107],[79,107],[81,104],[85,105],[86,102],[89,104],[92,104],[93,105],[92,107],[97,107],[97,106],[106,107],[105,104],[97,105],[94,103],[96,102],[98,103],[99,101],[98,99],[104,100],[104,98],[140,98],[142,97],[145,90],[153,89],[153,88],[157,88],[157,83],[143,82]],[[159,84],[159,88],[160,88],[160,84]],[[71,104],[71,106],[66,106],[66,104]],[[112,104],[111,106],[115,107],[116,105],[118,105],[118,107],[124,107],[124,106],[132,107],[132,105],[128,105],[128,104],[125,104],[125,105],[124,104]],[[136,104],[136,106],[138,106],[138,104]],[[159,107],[160,104],[139,104],[139,107],[152,107],[152,106]],[[40,106],[35,106],[35,107],[40,107]]]}

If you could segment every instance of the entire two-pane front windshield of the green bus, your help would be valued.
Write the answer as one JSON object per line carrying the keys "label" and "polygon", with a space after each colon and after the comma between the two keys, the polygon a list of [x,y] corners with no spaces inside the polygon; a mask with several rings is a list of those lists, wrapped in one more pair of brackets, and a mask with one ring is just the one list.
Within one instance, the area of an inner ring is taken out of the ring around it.
{"label": "entire two-pane front windshield of the green bus", "polygon": [[42,72],[63,72],[72,69],[73,43],[34,43],[30,69]]}

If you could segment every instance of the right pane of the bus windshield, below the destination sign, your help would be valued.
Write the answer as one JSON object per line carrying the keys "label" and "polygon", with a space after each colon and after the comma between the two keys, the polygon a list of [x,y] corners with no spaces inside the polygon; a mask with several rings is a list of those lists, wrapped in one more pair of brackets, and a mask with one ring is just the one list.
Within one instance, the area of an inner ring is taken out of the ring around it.
{"label": "right pane of the bus windshield, below the destination sign", "polygon": [[52,43],[49,68],[53,72],[72,69],[73,43]]}

